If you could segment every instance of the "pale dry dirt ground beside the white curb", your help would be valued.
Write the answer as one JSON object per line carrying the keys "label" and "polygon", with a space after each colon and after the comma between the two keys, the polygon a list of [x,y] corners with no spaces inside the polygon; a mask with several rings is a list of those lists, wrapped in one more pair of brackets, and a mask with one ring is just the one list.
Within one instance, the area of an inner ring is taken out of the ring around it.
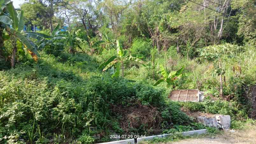
{"label": "pale dry dirt ground beside the white curb", "polygon": [[233,133],[226,131],[213,137],[200,137],[185,139],[167,144],[256,144],[256,127],[238,130]]}

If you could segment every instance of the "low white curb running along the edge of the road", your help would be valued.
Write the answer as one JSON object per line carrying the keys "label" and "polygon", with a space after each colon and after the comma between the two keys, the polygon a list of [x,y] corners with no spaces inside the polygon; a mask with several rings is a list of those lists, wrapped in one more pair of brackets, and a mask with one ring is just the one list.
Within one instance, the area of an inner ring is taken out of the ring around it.
{"label": "low white curb running along the edge of the road", "polygon": [[[182,132],[183,136],[188,136],[188,135],[193,135],[193,134],[206,134],[207,129],[200,129],[200,130],[195,130],[195,131],[188,131],[188,132]],[[161,135],[152,135],[152,136],[147,136],[145,138],[137,138],[137,143],[141,141],[148,141],[152,140],[154,137],[159,137],[159,138],[164,138],[167,136],[170,136],[172,134],[161,134]],[[104,143],[99,143],[99,144],[134,144],[135,141],[134,139],[128,139],[128,140],[122,140],[122,141],[110,141],[110,142],[104,142]]]}

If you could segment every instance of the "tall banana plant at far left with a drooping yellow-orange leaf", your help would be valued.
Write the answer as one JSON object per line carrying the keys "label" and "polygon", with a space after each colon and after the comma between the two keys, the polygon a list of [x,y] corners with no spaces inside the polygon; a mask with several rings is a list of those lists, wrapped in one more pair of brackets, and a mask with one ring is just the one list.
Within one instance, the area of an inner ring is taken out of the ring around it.
{"label": "tall banana plant at far left with a drooping yellow-orange leaf", "polygon": [[39,53],[36,50],[36,45],[25,37],[23,33],[24,21],[23,21],[23,10],[18,14],[15,10],[13,3],[8,0],[1,0],[1,14],[4,9],[7,10],[8,15],[0,16],[0,22],[4,24],[5,31],[9,34],[7,40],[11,42],[12,45],[12,56],[11,56],[11,67],[15,67],[15,58],[17,52],[17,41],[22,43],[27,51],[31,54],[32,58],[37,61]]}

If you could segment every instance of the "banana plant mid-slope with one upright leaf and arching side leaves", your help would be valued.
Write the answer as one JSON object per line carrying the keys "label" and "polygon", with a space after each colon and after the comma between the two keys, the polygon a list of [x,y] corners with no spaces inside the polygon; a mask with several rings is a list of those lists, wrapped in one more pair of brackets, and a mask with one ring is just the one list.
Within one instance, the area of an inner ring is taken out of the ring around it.
{"label": "banana plant mid-slope with one upright leaf and arching side leaves", "polygon": [[143,63],[143,61],[140,59],[143,56],[142,55],[127,55],[127,50],[123,50],[122,45],[119,44],[119,41],[117,40],[117,55],[114,55],[110,57],[107,61],[102,63],[98,69],[103,69],[102,71],[106,71],[113,65],[120,63],[122,68],[122,76],[124,77],[124,63],[127,61],[135,61],[139,63]]}

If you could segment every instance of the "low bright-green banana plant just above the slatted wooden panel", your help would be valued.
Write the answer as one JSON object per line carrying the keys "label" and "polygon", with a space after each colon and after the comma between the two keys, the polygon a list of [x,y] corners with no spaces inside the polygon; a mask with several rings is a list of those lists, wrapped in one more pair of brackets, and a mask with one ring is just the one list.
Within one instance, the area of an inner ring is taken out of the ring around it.
{"label": "low bright-green banana plant just above the slatted wooden panel", "polygon": [[163,65],[160,65],[160,73],[162,74],[163,78],[157,80],[154,86],[157,86],[161,82],[166,82],[168,85],[174,85],[174,81],[181,77],[187,77],[191,75],[191,73],[182,73],[184,70],[184,66],[181,67],[178,71],[168,72],[167,68]]}

